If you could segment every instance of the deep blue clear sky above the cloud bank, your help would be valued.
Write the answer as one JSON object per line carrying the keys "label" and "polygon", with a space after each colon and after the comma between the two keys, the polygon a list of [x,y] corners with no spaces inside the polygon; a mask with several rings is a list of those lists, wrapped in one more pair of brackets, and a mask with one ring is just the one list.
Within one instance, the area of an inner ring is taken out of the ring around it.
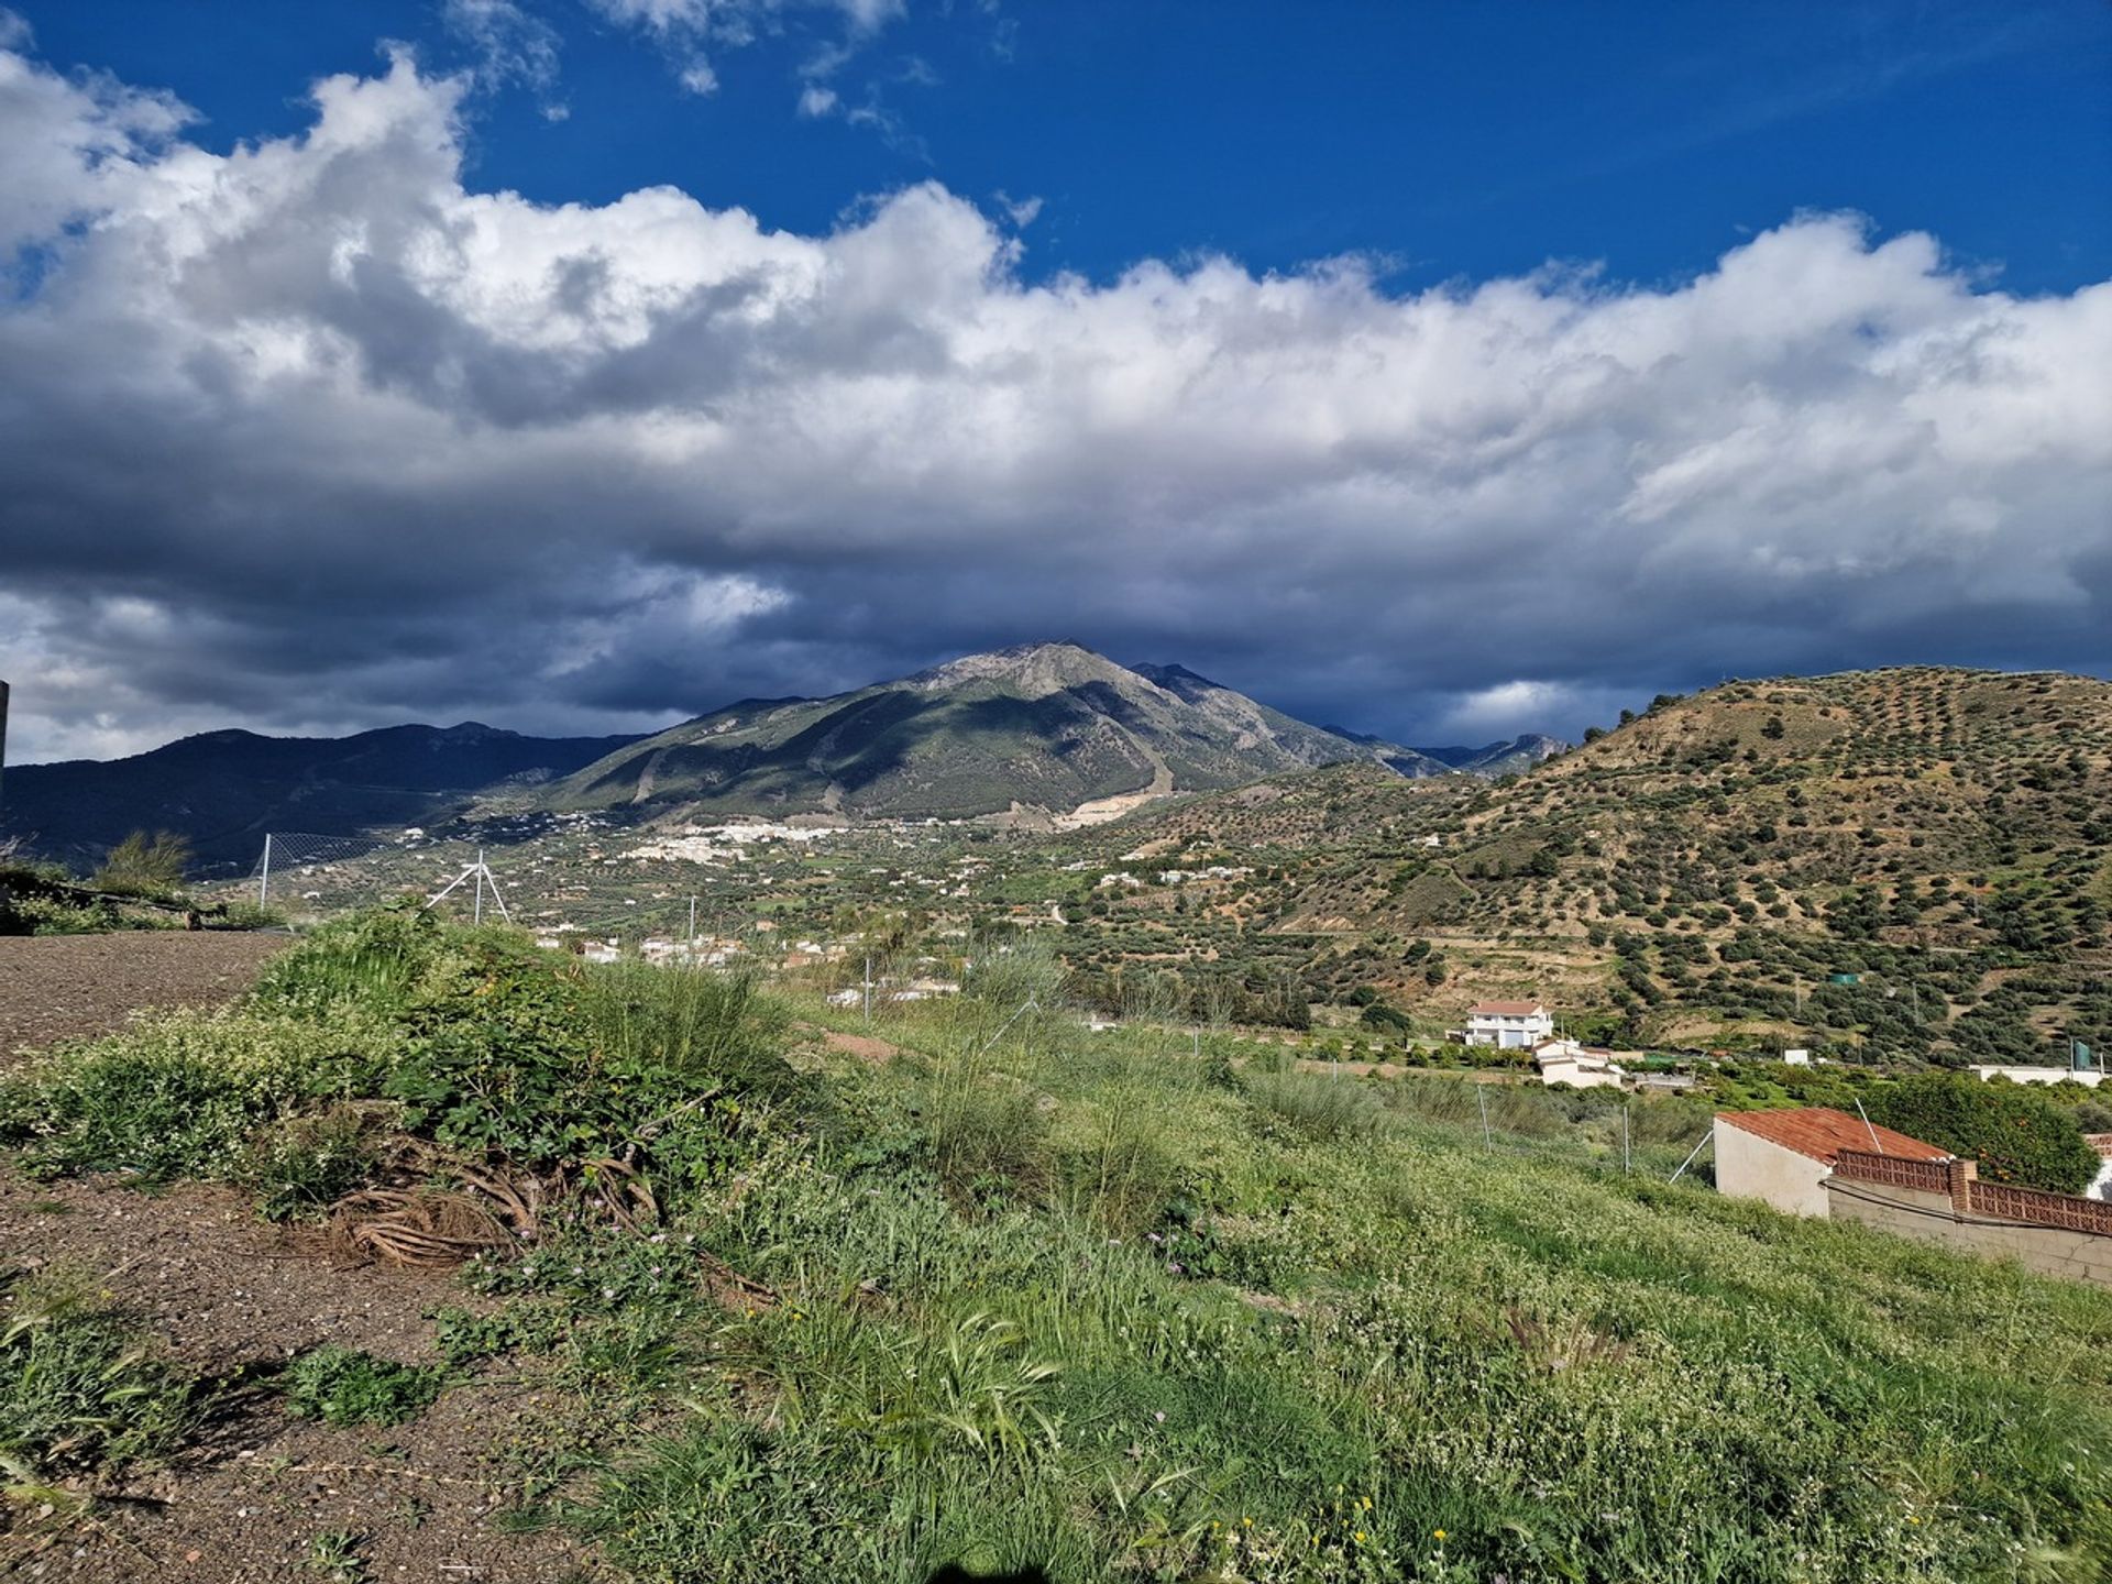
{"label": "deep blue clear sky above the cloud bank", "polygon": [[[477,106],[477,186],[606,203],[674,184],[813,232],[938,177],[1041,199],[1026,270],[1366,251],[1390,281],[1592,260],[1649,281],[1797,209],[1930,230],[2017,291],[2112,275],[2112,6],[2099,0],[1067,0],[921,4],[868,36],[788,11],[684,91],[648,34],[522,0],[555,78]],[[17,4],[42,53],[173,89],[199,142],[291,133],[376,40],[475,59],[431,0]],[[798,118],[815,55],[845,106]],[[562,106],[564,120],[541,112]]]}

